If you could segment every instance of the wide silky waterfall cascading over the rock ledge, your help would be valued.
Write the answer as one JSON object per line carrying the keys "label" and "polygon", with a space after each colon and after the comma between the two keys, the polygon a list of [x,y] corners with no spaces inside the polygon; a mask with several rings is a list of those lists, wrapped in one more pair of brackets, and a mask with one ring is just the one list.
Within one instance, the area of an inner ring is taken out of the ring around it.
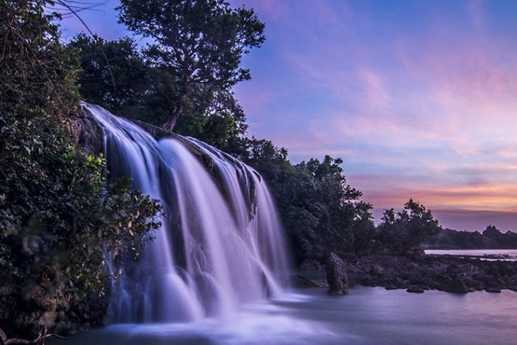
{"label": "wide silky waterfall cascading over the rock ledge", "polygon": [[103,130],[110,178],[131,177],[134,188],[159,199],[165,213],[155,241],[112,286],[110,322],[225,317],[281,292],[285,243],[256,170],[194,138],[156,141],[127,119],[83,106]]}

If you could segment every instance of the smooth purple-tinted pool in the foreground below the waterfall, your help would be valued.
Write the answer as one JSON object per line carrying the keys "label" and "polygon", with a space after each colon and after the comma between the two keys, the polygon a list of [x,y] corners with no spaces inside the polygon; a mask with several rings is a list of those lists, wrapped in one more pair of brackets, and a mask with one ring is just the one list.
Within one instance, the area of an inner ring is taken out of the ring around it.
{"label": "smooth purple-tinted pool in the foreground below the waterfall", "polygon": [[296,290],[230,319],[119,324],[50,344],[516,344],[517,293],[423,294],[358,286]]}

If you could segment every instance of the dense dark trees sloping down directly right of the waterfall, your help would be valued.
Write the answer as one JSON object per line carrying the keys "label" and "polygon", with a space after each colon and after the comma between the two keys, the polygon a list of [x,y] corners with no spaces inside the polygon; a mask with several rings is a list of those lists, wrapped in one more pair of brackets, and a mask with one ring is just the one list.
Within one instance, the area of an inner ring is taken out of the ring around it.
{"label": "dense dark trees sloping down directly right of the waterfall", "polygon": [[321,259],[329,251],[367,253],[374,224],[370,204],[346,183],[341,159],[325,156],[291,164],[287,150],[250,139],[247,164],[261,172],[276,199],[297,262]]}

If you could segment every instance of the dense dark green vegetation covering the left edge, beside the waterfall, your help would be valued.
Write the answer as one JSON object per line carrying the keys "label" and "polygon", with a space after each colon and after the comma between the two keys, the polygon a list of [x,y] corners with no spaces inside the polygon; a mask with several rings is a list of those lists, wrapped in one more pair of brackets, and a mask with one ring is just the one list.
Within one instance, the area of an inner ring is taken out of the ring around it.
{"label": "dense dark green vegetation covering the left edge, beside the waterfall", "polygon": [[45,1],[0,3],[0,328],[69,330],[105,311],[105,256],[138,250],[156,201],[74,146],[77,54]]}

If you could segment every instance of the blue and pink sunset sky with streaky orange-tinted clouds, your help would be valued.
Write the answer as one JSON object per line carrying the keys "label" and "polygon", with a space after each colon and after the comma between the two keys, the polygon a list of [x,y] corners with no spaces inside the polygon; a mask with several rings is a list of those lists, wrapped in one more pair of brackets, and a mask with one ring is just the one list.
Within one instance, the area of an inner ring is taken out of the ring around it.
{"label": "blue and pink sunset sky with streaky orange-tinted clouds", "polygon": [[[445,227],[517,230],[517,1],[230,2],[265,23],[234,89],[250,135],[294,162],[342,157],[377,220],[412,197]],[[116,4],[81,17],[130,35]]]}

